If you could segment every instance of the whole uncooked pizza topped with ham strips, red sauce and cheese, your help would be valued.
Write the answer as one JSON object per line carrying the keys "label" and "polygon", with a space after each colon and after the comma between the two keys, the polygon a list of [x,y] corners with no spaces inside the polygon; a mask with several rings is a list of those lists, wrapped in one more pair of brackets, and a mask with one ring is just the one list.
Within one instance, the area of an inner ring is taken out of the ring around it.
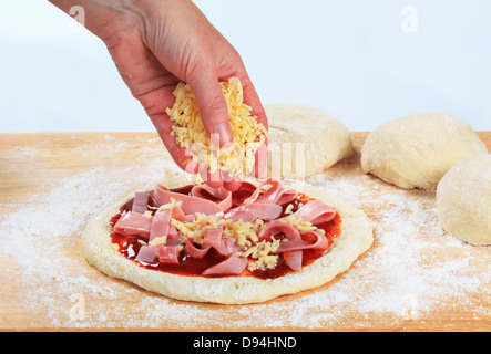
{"label": "whole uncooked pizza topped with ham strips, red sauce and cheese", "polygon": [[254,303],[317,288],[369,249],[372,227],[306,186],[268,178],[228,191],[170,174],[91,221],[83,252],[108,275],[178,300]]}

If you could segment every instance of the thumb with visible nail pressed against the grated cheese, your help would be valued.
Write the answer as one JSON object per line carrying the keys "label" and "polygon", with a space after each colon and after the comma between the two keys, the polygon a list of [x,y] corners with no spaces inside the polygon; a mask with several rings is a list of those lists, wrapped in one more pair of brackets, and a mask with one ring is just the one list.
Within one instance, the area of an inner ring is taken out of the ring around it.
{"label": "thumb with visible nail pressed against the grated cheese", "polygon": [[202,72],[202,75],[190,80],[188,83],[196,97],[203,125],[212,142],[219,147],[232,143],[234,138],[228,118],[227,102],[215,72]]}

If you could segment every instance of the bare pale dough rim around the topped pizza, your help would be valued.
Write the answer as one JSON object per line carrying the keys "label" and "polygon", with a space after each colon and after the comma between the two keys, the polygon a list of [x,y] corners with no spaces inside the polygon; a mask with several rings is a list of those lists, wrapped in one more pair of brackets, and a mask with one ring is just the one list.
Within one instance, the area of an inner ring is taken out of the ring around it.
{"label": "bare pale dough rim around the topped pizza", "polygon": [[[186,185],[188,181],[178,174],[167,178],[163,184],[173,188]],[[147,189],[154,188],[155,185],[149,186]],[[341,235],[327,253],[299,272],[262,280],[254,277],[185,277],[139,267],[114,249],[110,238],[109,220],[131,197],[116,202],[89,223],[82,237],[83,254],[90,264],[110,277],[127,280],[149,291],[178,300],[244,304],[320,287],[348,270],[351,263],[370,248],[374,241],[372,226],[361,210],[323,190],[303,187],[298,191],[328,204],[338,211],[342,220]]]}

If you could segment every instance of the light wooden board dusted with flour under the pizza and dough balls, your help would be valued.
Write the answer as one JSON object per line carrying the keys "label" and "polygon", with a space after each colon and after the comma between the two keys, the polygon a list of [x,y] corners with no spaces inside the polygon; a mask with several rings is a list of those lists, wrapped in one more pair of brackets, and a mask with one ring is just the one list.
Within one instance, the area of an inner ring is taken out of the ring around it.
{"label": "light wooden board dusted with flour under the pizza and dough balls", "polygon": [[[330,283],[264,304],[174,301],[88,266],[90,218],[173,164],[153,133],[0,135],[0,329],[489,331],[491,249],[444,233],[434,192],[364,175],[360,147],[309,183],[374,221],[376,241]],[[479,133],[488,148],[491,132]]]}

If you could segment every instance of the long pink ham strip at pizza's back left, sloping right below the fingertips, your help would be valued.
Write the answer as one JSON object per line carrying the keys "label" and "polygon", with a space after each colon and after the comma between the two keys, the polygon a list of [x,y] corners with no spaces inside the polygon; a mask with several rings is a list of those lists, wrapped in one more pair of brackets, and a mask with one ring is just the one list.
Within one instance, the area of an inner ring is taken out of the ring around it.
{"label": "long pink ham strip at pizza's back left, sloping right below the fingertips", "polygon": [[216,202],[198,197],[173,192],[164,188],[163,186],[158,185],[153,194],[153,198],[160,206],[171,202],[171,198],[174,198],[177,201],[182,201],[181,209],[185,215],[201,212],[204,215],[216,215],[222,217],[224,214],[222,208]]}

